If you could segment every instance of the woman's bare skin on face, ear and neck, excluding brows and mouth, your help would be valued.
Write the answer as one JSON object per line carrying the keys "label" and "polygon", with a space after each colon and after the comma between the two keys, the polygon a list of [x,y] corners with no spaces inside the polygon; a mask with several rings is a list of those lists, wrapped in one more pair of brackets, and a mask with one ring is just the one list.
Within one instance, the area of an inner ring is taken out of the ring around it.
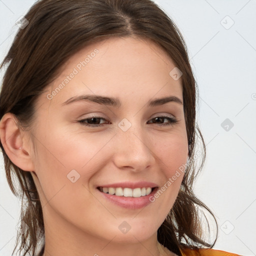
{"label": "woman's bare skin on face, ear and neck, excluding brows and mouth", "polygon": [[[98,53],[48,99],[47,94],[95,48]],[[4,149],[14,164],[32,172],[39,193],[44,256],[173,255],[157,242],[157,229],[174,203],[182,173],[142,209],[113,204],[96,186],[145,180],[161,187],[186,163],[183,105],[172,101],[146,106],[148,100],[169,95],[182,101],[181,78],[169,75],[174,67],[163,49],[149,39],[112,37],[86,46],[65,63],[38,97],[31,129],[18,128],[11,113],[3,116]],[[61,105],[81,94],[117,97],[121,107],[90,101]],[[97,119],[102,126],[78,122],[94,115],[104,118]],[[153,119],[161,115],[174,116],[177,123],[160,126],[169,123],[165,118]],[[126,131],[118,126],[123,118],[131,123]],[[72,169],[80,175],[74,183],[67,178]],[[125,234],[118,228],[123,221],[131,227]]]}

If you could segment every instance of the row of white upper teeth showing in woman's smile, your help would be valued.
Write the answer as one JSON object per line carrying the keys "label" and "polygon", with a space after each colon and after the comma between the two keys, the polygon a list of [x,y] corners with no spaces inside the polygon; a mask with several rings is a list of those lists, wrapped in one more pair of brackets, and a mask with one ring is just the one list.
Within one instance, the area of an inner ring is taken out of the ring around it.
{"label": "row of white upper teeth showing in woman's smile", "polygon": [[151,193],[151,187],[137,187],[137,188],[129,188],[129,187],[100,187],[99,190],[104,193],[115,194],[117,196],[132,196],[132,197],[140,197],[144,195],[148,195]]}

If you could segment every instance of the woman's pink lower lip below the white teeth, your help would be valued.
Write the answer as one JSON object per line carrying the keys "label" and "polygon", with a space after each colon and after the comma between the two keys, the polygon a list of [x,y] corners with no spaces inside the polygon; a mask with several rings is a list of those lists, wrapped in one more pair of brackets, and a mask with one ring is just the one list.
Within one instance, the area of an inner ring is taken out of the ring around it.
{"label": "woman's pink lower lip below the white teeth", "polygon": [[112,195],[112,194],[107,194],[104,192],[99,191],[97,188],[96,190],[104,196],[107,200],[115,203],[116,205],[119,205],[124,208],[129,208],[129,209],[139,209],[142,207],[145,207],[148,205],[151,201],[149,198],[152,198],[155,191],[157,190],[157,187],[155,187],[150,194],[140,196],[140,197],[131,197],[131,196],[118,196],[118,195]]}

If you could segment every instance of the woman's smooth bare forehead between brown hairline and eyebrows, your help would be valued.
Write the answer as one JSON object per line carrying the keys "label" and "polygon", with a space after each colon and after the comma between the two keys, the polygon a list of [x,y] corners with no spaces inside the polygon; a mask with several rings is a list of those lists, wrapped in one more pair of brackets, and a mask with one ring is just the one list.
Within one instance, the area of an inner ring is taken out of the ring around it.
{"label": "woman's smooth bare forehead between brown hairline and eyebrows", "polygon": [[54,94],[51,104],[58,105],[88,93],[118,96],[122,101],[128,96],[141,101],[170,93],[182,97],[181,78],[170,75],[173,68],[168,54],[148,38],[110,37],[72,55],[45,93]]}

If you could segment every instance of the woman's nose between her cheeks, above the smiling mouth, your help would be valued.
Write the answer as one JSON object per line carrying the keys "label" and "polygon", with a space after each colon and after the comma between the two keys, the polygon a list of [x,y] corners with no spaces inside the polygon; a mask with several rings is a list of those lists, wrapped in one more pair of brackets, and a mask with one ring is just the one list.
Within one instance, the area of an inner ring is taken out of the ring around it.
{"label": "woman's nose between her cheeks, above the smiling mouth", "polygon": [[117,130],[113,161],[118,168],[138,172],[155,163],[152,140],[140,125],[132,124],[126,131]]}

